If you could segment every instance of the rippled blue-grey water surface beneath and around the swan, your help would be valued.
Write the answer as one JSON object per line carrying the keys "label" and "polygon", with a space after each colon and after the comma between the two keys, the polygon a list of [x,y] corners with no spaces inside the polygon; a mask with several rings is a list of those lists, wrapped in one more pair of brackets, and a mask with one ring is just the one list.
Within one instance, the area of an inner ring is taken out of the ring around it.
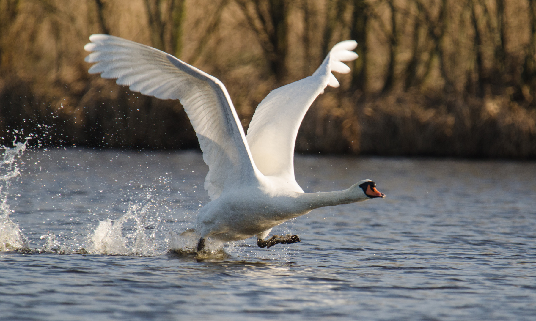
{"label": "rippled blue-grey water surface beneath and around the swan", "polygon": [[297,156],[306,191],[370,178],[387,198],[272,232],[301,243],[259,249],[251,238],[196,258],[168,250],[209,201],[199,153],[21,152],[0,173],[12,176],[1,190],[0,320],[536,315],[534,162]]}

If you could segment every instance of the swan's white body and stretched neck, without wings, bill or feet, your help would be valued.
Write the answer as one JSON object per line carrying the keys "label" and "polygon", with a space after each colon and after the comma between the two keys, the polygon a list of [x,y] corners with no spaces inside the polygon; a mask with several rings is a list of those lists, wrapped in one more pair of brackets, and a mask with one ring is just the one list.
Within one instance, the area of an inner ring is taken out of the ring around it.
{"label": "swan's white body and stretched neck, without wings, bill or feet", "polygon": [[199,211],[197,226],[203,237],[221,241],[244,240],[254,235],[263,240],[272,227],[315,208],[370,199],[357,186],[360,183],[344,191],[304,193],[301,189],[280,188],[268,178],[258,187],[222,193]]}

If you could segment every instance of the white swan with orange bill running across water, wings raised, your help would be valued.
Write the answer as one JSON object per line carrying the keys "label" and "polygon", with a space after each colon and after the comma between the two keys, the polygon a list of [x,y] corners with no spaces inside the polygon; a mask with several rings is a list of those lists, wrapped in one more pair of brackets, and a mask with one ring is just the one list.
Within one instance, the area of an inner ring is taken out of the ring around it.
{"label": "white swan with orange bill running across water, wings raised", "polygon": [[[158,49],[105,34],[84,46],[95,63],[88,70],[118,85],[158,99],[178,99],[190,118],[209,166],[204,187],[211,201],[197,215],[197,251],[207,238],[223,242],[257,236],[260,248],[300,242],[297,235],[273,235],[272,228],[318,207],[384,198],[376,183],[362,180],[343,191],[305,193],[294,177],[294,144],[303,116],[331,73],[348,73],[343,61],[358,58],[357,42],[337,43],[312,76],[271,91],[259,103],[248,135],[227,89],[215,77]],[[184,232],[184,233],[187,233]],[[184,234],[183,233],[183,234]]]}

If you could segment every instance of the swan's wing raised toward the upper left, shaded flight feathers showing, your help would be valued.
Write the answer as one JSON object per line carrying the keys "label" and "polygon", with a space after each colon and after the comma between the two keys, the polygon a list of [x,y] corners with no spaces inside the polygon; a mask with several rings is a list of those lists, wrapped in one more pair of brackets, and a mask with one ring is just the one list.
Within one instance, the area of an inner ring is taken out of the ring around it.
{"label": "swan's wing raised toward the upper left, shaded flight feathers showing", "polygon": [[199,138],[209,166],[205,189],[211,199],[225,187],[258,183],[242,125],[220,80],[172,55],[110,35],[94,34],[84,49],[90,73],[115,79],[131,91],[159,99],[178,99]]}

